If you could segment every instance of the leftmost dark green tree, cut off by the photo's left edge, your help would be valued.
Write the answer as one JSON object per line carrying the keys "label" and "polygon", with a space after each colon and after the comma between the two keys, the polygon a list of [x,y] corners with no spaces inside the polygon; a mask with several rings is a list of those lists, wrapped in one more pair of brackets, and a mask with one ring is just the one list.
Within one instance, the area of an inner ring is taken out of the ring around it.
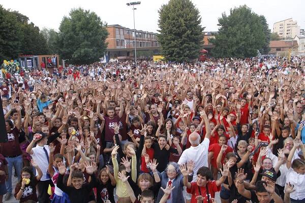
{"label": "leftmost dark green tree, cut off by the photo's left edge", "polygon": [[17,16],[0,5],[0,64],[17,58],[20,52],[20,26]]}

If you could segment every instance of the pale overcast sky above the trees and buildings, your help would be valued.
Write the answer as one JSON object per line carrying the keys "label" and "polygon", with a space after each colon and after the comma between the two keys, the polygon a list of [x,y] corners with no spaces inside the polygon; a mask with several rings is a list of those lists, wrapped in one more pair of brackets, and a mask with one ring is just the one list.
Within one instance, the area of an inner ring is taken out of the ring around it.
{"label": "pale overcast sky above the trees and buildings", "polygon": [[[40,28],[48,27],[58,30],[63,16],[68,16],[72,8],[81,7],[96,12],[108,24],[119,24],[133,28],[133,12],[126,0],[53,0],[53,1],[18,1],[1,0],[0,4],[6,9],[19,11]],[[168,0],[142,0],[135,11],[136,29],[144,31],[158,30],[158,10]],[[272,31],[273,23],[287,18],[296,20],[300,28],[305,28],[304,0],[212,0],[192,1],[199,9],[202,26],[205,31],[218,30],[218,18],[223,12],[229,14],[230,8],[246,4],[255,13],[264,15]]]}

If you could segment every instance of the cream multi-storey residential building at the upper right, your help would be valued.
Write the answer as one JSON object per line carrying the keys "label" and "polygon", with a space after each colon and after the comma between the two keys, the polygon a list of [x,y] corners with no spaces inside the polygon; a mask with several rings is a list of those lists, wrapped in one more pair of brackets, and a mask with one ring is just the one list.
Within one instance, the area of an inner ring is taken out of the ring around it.
{"label": "cream multi-storey residential building at the upper right", "polygon": [[277,32],[281,38],[292,39],[296,35],[300,35],[300,27],[297,25],[297,21],[288,18],[274,23],[273,32]]}

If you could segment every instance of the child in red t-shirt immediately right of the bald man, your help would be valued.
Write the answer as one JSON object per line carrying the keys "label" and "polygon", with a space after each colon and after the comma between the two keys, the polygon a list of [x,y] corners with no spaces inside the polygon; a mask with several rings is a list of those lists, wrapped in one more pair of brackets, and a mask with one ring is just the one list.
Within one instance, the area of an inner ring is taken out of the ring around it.
{"label": "child in red t-shirt immediately right of the bald man", "polygon": [[[217,160],[218,154],[221,150],[221,147],[223,145],[225,145],[226,143],[227,143],[227,138],[224,135],[221,135],[218,139],[218,144],[211,144],[208,147],[208,159],[210,160],[209,162],[211,164],[211,171],[212,171],[214,180],[217,180],[217,174],[218,174],[216,160]],[[221,159],[221,163],[223,163],[226,154],[229,152],[233,152],[233,149],[228,146],[226,151],[224,151],[224,155]]]}

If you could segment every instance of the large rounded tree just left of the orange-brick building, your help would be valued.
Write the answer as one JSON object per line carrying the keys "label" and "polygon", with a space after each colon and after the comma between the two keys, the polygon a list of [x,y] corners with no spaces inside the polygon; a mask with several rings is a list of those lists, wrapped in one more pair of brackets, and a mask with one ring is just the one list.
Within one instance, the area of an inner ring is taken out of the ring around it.
{"label": "large rounded tree just left of the orange-brick building", "polygon": [[72,9],[59,26],[58,52],[69,63],[89,64],[104,56],[108,32],[96,13]]}

